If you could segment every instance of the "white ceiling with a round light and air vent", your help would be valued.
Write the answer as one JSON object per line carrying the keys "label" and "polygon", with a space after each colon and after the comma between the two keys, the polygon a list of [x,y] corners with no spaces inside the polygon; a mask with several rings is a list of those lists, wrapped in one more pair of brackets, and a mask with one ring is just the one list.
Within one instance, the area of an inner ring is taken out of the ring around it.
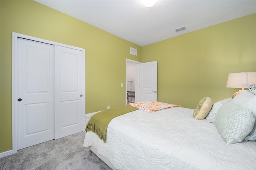
{"label": "white ceiling with a round light and air vent", "polygon": [[256,13],[256,0],[157,0],[150,8],[142,0],[35,1],[140,46]]}

